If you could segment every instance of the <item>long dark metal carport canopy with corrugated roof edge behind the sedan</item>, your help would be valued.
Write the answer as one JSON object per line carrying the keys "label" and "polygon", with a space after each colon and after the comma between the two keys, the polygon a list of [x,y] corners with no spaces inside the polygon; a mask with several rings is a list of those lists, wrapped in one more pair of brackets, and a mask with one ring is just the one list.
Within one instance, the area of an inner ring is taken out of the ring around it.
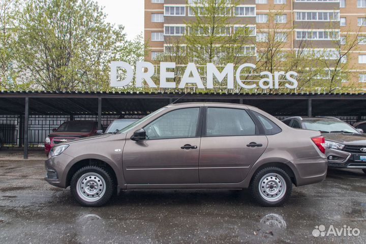
{"label": "long dark metal carport canopy with corrugated roof edge behind the sedan", "polygon": [[[179,99],[180,98],[180,99]],[[1,115],[24,115],[24,158],[27,158],[29,114],[146,115],[179,99],[181,102],[226,102],[258,107],[275,116],[362,116],[366,95],[361,94],[226,94],[124,92],[0,92]],[[100,123],[99,123],[100,125]]]}

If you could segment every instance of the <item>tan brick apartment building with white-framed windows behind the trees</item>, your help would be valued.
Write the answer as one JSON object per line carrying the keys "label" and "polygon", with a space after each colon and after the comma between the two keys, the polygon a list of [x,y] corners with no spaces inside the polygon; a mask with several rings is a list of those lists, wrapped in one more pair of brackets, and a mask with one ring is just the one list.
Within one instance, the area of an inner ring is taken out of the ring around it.
{"label": "tan brick apartment building with white-framed windows behind the trees", "polygon": [[[185,22],[195,18],[190,4],[195,0],[145,0],[145,41],[149,43],[146,60],[154,60],[167,48],[167,38],[185,34]],[[286,42],[282,49],[296,50],[306,40],[310,51],[327,54],[337,59],[339,48],[347,51],[349,43],[357,39],[356,46],[342,62],[347,67],[352,82],[364,82],[366,87],[366,0],[240,0],[231,11],[236,25],[252,29],[257,54],[261,42],[270,31],[268,16],[276,14],[275,37]],[[235,26],[234,26],[235,28]],[[303,47],[302,47],[303,48]],[[256,54],[254,54],[256,55]]]}

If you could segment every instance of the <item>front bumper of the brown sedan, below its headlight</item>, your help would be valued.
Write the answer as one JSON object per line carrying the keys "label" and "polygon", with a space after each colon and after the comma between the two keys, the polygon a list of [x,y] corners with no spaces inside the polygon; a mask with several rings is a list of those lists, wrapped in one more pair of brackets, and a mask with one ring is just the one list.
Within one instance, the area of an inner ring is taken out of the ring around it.
{"label": "front bumper of the brown sedan, below its headlight", "polygon": [[45,169],[47,171],[45,180],[52,186],[67,188],[68,165],[72,159],[71,156],[64,153],[47,159],[45,161]]}

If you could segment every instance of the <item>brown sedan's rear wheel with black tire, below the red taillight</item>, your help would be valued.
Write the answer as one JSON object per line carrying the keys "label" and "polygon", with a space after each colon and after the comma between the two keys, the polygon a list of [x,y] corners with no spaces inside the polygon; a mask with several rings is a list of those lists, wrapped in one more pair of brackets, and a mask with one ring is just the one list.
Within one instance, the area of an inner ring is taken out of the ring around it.
{"label": "brown sedan's rear wheel with black tire, below the red taillight", "polygon": [[260,205],[277,207],[282,206],[291,196],[292,181],[283,169],[268,167],[255,173],[249,188]]}

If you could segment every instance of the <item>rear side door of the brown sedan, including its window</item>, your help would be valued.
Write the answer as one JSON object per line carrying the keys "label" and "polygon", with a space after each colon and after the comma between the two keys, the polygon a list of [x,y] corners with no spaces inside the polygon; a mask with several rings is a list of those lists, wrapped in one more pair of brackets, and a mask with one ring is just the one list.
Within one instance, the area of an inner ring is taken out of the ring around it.
{"label": "rear side door of the brown sedan, including its window", "polygon": [[245,109],[206,107],[199,156],[199,182],[236,183],[267,147],[267,137]]}

